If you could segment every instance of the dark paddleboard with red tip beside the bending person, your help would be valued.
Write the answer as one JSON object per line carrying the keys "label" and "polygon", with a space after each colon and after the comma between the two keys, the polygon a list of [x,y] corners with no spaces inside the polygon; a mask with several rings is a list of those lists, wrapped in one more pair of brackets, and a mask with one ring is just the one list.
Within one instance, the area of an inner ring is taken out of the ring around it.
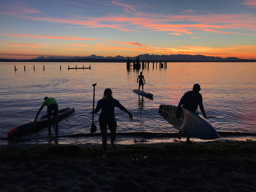
{"label": "dark paddleboard with red tip beside the bending person", "polygon": [[[63,119],[65,116],[69,115],[70,113],[75,112],[75,108],[64,108],[58,111],[58,120],[60,121]],[[53,113],[51,114],[51,123],[54,124],[55,120],[52,118]],[[21,124],[17,127],[14,127],[12,130],[10,130],[7,133],[7,137],[12,137],[12,136],[19,136],[19,135],[25,135],[29,132],[36,132],[40,128],[43,128],[48,125],[48,117],[47,115],[41,116],[38,118],[38,121],[31,120],[27,123]]]}

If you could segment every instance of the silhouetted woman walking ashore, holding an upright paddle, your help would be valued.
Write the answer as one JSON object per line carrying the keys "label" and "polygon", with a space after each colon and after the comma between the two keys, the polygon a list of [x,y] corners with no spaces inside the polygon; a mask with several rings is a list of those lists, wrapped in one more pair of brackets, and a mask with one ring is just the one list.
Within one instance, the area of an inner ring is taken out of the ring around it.
{"label": "silhouetted woman walking ashore, holding an upright paddle", "polygon": [[[102,136],[102,147],[104,155],[102,158],[107,156],[107,126],[111,134],[111,145],[115,149],[114,140],[116,139],[116,118],[115,118],[115,107],[120,108],[124,112],[129,114],[129,119],[132,119],[132,114],[124,106],[122,106],[118,100],[114,99],[112,96],[111,89],[105,89],[104,96],[101,100],[97,102],[97,106],[91,113],[98,113],[101,109],[99,122],[100,122],[100,132]],[[132,119],[133,120],[133,119]]]}

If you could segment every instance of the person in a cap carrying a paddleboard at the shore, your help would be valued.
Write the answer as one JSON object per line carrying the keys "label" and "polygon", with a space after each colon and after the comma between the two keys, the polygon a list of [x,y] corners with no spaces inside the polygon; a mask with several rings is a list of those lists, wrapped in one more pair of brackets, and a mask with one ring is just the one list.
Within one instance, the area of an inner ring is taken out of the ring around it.
{"label": "person in a cap carrying a paddleboard at the shore", "polygon": [[[200,110],[202,111],[202,113],[204,115],[204,118],[205,119],[207,118],[206,115],[205,115],[205,112],[204,112],[203,98],[202,98],[201,93],[199,93],[200,90],[201,90],[200,85],[199,84],[194,84],[193,90],[186,92],[182,96],[182,98],[180,99],[180,103],[178,105],[177,111],[176,111],[176,117],[177,118],[180,118],[181,105],[183,105],[184,108],[186,108],[190,111],[194,111],[194,112],[196,112],[196,109],[199,105]],[[180,140],[180,137],[181,137],[181,133],[182,133],[182,131],[179,131],[179,133],[178,133],[178,139],[179,140]],[[188,143],[188,144],[192,143],[189,140],[189,138],[190,138],[190,136],[188,135],[187,140],[186,140],[186,143]]]}

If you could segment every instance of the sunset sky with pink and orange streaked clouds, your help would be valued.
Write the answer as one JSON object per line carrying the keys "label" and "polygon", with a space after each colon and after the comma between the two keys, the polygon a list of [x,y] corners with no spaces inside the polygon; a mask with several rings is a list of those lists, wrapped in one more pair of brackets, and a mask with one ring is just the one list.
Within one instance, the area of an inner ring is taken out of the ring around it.
{"label": "sunset sky with pink and orange streaked clouds", "polygon": [[1,0],[0,58],[256,59],[256,0]]}

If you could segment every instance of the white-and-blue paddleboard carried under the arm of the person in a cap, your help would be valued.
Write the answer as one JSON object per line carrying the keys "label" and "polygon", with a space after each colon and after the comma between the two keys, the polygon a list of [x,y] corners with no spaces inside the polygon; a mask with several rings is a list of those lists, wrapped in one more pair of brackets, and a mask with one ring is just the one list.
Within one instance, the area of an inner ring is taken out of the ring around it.
{"label": "white-and-blue paddleboard carried under the arm of the person in a cap", "polygon": [[158,113],[172,126],[187,135],[205,140],[217,139],[220,137],[212,124],[196,112],[181,108],[180,118],[177,118],[177,108],[178,107],[174,105],[160,105]]}

